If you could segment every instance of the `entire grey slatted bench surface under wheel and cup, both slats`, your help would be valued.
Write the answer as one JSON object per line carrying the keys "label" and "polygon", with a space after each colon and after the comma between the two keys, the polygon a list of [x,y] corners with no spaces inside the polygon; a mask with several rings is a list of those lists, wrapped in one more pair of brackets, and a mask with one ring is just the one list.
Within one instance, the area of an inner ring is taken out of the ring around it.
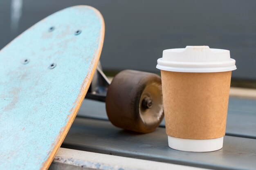
{"label": "entire grey slatted bench surface under wheel and cup, both slats", "polygon": [[182,152],[168,148],[164,122],[139,134],[112,126],[105,103],[87,100],[62,147],[211,169],[256,169],[256,100],[229,99],[224,146],[215,152]]}

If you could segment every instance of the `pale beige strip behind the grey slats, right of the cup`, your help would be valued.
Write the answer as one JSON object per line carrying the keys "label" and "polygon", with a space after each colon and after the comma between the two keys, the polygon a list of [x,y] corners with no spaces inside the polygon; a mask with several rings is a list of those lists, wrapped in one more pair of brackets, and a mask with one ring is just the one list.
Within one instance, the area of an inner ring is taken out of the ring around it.
{"label": "pale beige strip behind the grey slats, right of the cup", "polygon": [[243,99],[256,99],[256,89],[231,87],[229,96]]}

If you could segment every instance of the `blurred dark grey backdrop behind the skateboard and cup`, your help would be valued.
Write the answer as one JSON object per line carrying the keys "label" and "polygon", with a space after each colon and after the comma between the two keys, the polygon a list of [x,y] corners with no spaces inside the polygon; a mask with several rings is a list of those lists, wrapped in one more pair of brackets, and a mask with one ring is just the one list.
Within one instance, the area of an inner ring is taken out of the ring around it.
{"label": "blurred dark grey backdrop behind the skateboard and cup", "polygon": [[230,50],[238,67],[233,79],[256,79],[254,0],[0,0],[0,49],[39,20],[79,4],[97,8],[105,19],[106,73],[159,73],[164,49],[208,45]]}

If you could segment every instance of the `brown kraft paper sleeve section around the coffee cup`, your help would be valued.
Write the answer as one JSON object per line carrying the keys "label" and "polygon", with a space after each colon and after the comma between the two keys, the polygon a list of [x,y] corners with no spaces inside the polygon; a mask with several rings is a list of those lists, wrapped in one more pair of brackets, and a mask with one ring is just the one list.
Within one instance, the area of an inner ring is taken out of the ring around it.
{"label": "brown kraft paper sleeve section around the coffee cup", "polygon": [[166,133],[183,139],[225,136],[231,71],[161,70]]}

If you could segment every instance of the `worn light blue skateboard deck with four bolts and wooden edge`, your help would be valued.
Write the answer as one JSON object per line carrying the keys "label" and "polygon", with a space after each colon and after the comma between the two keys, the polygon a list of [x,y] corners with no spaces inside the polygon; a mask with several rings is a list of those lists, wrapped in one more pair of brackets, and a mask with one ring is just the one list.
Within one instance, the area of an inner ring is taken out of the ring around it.
{"label": "worn light blue skateboard deck with four bolts and wooden edge", "polygon": [[90,86],[105,25],[75,6],[36,23],[0,51],[0,169],[47,169]]}

